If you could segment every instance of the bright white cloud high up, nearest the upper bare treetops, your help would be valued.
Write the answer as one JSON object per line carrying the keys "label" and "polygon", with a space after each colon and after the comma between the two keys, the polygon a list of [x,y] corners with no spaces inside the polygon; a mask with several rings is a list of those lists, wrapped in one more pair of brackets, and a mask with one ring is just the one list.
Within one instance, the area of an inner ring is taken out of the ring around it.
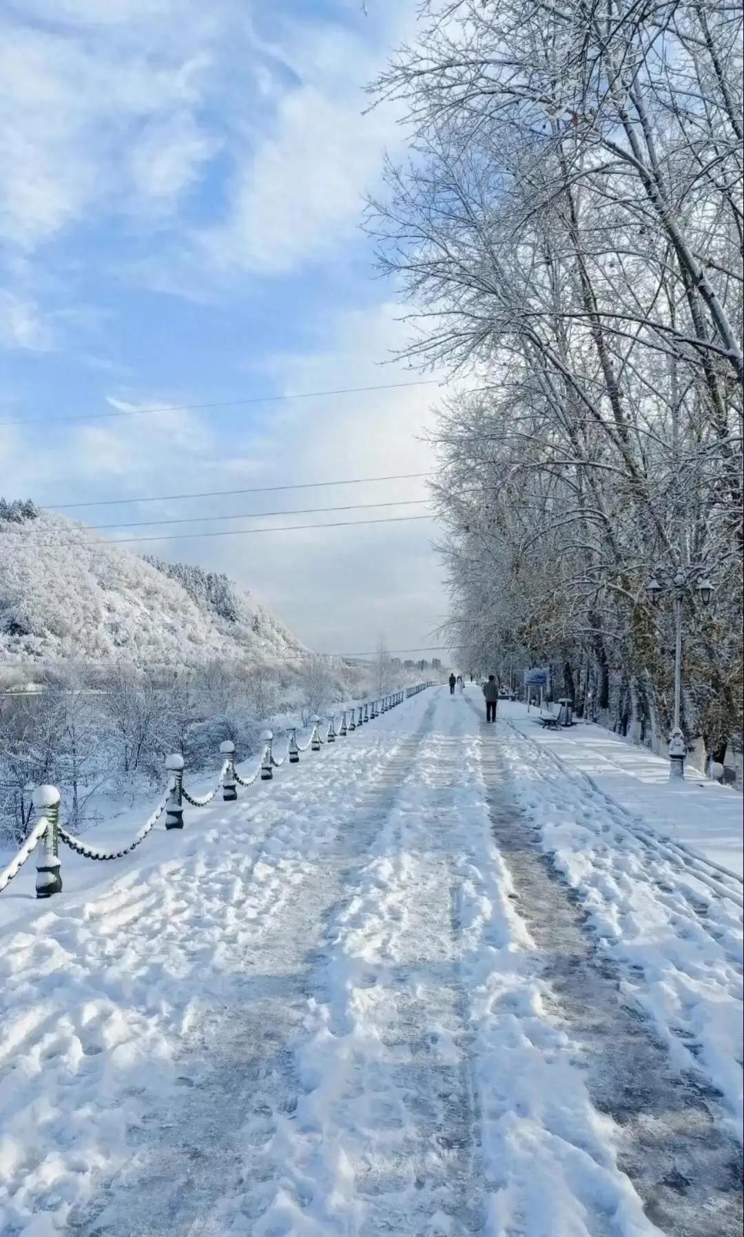
{"label": "bright white cloud high up, nearest the upper bare treetops", "polygon": [[[394,25],[403,28],[409,12],[402,5]],[[222,267],[278,273],[337,250],[358,228],[363,194],[400,132],[394,109],[365,111],[362,88],[381,61],[358,37],[309,28],[281,49],[261,46],[298,84],[272,90],[262,69],[272,121],[239,162],[226,219],[199,242]]]}

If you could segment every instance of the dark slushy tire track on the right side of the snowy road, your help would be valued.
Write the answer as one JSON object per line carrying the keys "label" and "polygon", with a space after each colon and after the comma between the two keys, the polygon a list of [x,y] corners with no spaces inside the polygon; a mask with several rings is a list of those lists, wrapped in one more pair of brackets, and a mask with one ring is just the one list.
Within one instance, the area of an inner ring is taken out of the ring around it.
{"label": "dark slushy tire track on the right side of the snowy road", "polygon": [[676,1070],[651,1022],[624,1004],[618,967],[598,954],[578,898],[510,794],[492,734],[482,738],[481,768],[494,837],[543,955],[555,1014],[581,1043],[596,1107],[623,1131],[619,1164],[646,1215],[670,1237],[734,1237],[742,1231],[742,1162],[712,1115],[718,1092]]}

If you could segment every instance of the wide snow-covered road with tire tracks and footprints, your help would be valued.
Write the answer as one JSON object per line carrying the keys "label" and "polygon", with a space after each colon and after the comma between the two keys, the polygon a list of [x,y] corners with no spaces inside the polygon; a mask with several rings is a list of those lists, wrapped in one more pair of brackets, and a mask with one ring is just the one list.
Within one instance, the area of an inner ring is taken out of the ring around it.
{"label": "wide snow-covered road with tire tracks and footprints", "polygon": [[2,1237],[740,1231],[735,888],[477,703],[21,891]]}

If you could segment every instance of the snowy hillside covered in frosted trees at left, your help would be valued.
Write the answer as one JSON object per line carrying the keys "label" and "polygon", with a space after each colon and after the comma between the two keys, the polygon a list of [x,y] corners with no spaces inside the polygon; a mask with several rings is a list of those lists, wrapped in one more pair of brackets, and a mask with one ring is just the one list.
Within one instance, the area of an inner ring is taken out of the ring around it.
{"label": "snowy hillside covered in frosted trees at left", "polygon": [[0,666],[70,657],[193,664],[299,648],[225,575],[138,558],[66,516],[0,500]]}

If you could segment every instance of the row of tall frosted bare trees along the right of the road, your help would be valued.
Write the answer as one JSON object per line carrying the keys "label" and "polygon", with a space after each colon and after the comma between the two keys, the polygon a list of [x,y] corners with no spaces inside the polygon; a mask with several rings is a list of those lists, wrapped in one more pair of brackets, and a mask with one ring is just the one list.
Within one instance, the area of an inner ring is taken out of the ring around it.
{"label": "row of tall frosted bare trees along the right of the road", "polygon": [[660,746],[681,570],[682,722],[718,760],[743,703],[740,38],[713,0],[429,2],[373,88],[412,131],[371,204],[381,262],[409,355],[462,379],[435,434],[461,664],[550,662]]}

